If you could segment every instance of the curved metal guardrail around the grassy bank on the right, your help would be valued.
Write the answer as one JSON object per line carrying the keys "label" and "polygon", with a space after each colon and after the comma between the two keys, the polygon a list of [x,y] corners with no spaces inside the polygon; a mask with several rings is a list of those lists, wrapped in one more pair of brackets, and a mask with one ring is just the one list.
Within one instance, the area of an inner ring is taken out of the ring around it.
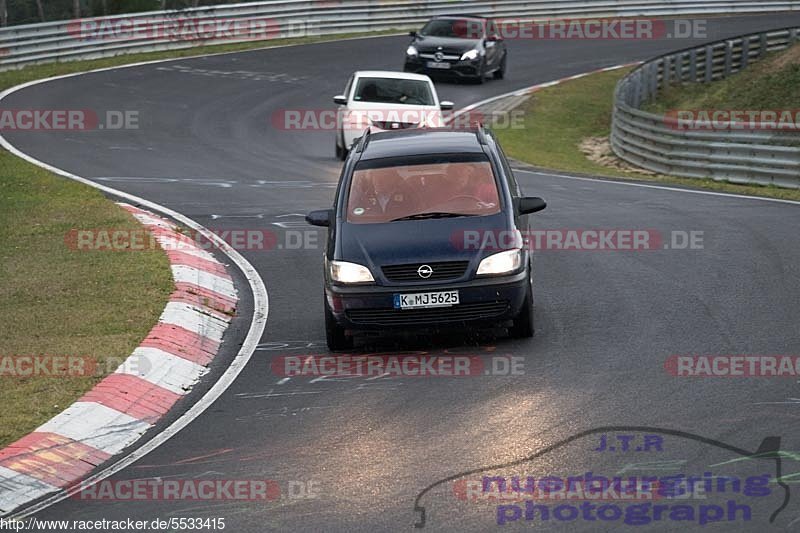
{"label": "curved metal guardrail around the grassy bank on the right", "polygon": [[751,128],[750,123],[720,121],[713,130],[690,130],[672,114],[641,110],[670,84],[721,80],[765,53],[783,50],[798,40],[800,28],[785,28],[645,62],[617,84],[611,148],[625,161],[661,174],[800,188],[797,129]]}

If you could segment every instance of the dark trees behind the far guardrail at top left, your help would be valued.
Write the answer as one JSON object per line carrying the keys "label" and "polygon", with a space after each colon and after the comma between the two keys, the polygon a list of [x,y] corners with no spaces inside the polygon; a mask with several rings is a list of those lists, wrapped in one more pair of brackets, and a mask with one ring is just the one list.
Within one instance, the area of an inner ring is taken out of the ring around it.
{"label": "dark trees behind the far guardrail at top left", "polygon": [[234,4],[237,1],[244,0],[0,0],[0,25]]}

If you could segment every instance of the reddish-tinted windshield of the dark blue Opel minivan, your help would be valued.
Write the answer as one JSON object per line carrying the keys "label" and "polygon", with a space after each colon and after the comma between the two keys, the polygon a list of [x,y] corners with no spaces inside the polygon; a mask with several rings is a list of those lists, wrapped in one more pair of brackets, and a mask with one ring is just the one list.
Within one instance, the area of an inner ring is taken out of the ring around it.
{"label": "reddish-tinted windshield of the dark blue Opel minivan", "polygon": [[483,154],[391,166],[362,162],[353,172],[347,199],[347,221],[353,224],[483,216],[499,211],[492,165]]}

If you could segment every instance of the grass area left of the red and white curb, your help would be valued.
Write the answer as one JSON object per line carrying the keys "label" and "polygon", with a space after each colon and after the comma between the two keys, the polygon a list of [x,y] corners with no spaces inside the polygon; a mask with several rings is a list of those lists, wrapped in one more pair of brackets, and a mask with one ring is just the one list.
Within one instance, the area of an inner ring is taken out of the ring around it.
{"label": "grass area left of the red and white curb", "polygon": [[20,378],[0,363],[0,448],[113,372],[172,290],[162,251],[74,251],[65,244],[72,228],[141,226],[99,191],[0,151],[0,361],[44,354],[97,361],[95,375],[79,378]]}

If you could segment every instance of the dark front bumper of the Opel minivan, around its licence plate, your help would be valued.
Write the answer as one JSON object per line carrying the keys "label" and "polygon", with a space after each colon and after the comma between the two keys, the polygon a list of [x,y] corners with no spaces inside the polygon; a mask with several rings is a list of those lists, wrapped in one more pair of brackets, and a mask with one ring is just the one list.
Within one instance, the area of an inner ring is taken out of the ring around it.
{"label": "dark front bumper of the Opel minivan, around its licence plate", "polygon": [[[340,286],[325,288],[336,321],[350,331],[419,330],[467,325],[495,325],[516,317],[525,300],[528,271],[511,276],[479,278],[463,283],[413,286]],[[459,304],[431,309],[395,309],[394,295],[459,291]]]}

